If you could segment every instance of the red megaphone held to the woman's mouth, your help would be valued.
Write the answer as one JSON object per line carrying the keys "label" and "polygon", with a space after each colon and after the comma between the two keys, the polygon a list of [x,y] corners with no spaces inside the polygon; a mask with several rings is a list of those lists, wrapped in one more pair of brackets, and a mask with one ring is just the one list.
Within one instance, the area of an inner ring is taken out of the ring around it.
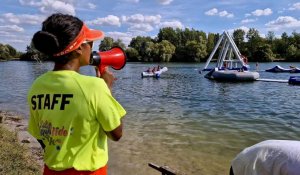
{"label": "red megaphone held to the woman's mouth", "polygon": [[93,51],[90,58],[90,65],[97,66],[102,74],[106,66],[115,70],[122,69],[126,64],[126,54],[121,47],[113,47],[108,51]]}

